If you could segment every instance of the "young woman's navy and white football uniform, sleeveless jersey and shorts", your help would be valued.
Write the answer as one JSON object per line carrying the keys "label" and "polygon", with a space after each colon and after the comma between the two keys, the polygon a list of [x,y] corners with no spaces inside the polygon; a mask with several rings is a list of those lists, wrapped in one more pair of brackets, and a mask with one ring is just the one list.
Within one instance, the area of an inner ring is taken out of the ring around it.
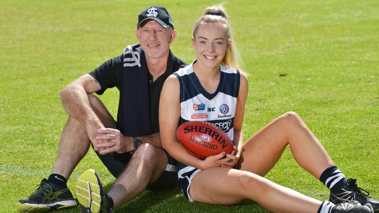
{"label": "young woman's navy and white football uniform, sleeveless jersey and shorts", "polygon": [[[193,64],[179,69],[174,75],[180,83],[180,124],[188,121],[208,121],[217,125],[233,140],[233,120],[240,89],[240,72],[220,64],[220,81],[216,91],[209,94],[193,72]],[[189,201],[189,186],[200,169],[178,161],[179,188]]]}

